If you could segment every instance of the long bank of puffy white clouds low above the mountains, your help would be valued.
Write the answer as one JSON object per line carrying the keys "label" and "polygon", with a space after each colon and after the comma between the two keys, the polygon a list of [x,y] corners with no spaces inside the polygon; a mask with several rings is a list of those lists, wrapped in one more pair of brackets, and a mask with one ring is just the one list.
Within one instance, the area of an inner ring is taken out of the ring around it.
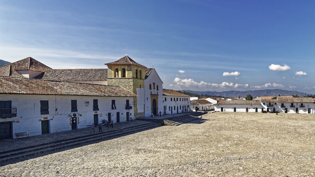
{"label": "long bank of puffy white clouds low above the mountains", "polygon": [[228,82],[222,82],[222,83],[206,83],[203,81],[200,81],[199,83],[194,81],[193,79],[180,79],[179,77],[176,77],[173,81],[175,83],[175,87],[213,87],[213,88],[248,88],[248,84],[234,84],[234,83],[228,83]]}

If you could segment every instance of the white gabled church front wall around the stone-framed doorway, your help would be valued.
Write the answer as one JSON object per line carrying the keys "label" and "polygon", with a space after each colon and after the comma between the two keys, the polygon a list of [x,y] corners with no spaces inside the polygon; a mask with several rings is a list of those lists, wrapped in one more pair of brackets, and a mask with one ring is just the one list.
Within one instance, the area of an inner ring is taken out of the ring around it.
{"label": "white gabled church front wall around the stone-framed doorway", "polygon": [[[152,85],[152,90],[150,90],[149,85]],[[153,83],[155,83],[155,88],[153,88]],[[157,90],[157,85],[159,90]],[[151,94],[158,94],[157,96],[157,104],[158,109],[157,113],[160,111],[163,114],[163,82],[158,76],[155,69],[151,72],[148,78],[144,80],[144,102],[145,102],[145,117],[151,116]],[[148,99],[146,99],[148,98]]]}

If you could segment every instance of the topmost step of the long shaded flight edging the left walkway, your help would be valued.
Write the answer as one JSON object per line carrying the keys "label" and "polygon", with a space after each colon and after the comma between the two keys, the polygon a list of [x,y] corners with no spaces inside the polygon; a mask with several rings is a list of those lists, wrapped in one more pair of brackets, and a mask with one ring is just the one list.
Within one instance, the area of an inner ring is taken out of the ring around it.
{"label": "topmost step of the long shaded flight edging the left walkway", "polygon": [[[110,131],[103,132],[103,133],[110,133],[110,132],[115,132],[115,131],[119,131],[119,130],[135,128],[135,127],[140,127],[140,126],[145,126],[145,125],[150,125],[150,124],[152,124],[152,123],[145,123],[145,124],[142,124],[142,125],[135,125],[135,126],[131,126],[131,127],[120,128],[118,130],[117,129],[116,130],[110,130]],[[103,133],[97,133],[97,134],[103,134]],[[20,150],[33,148],[33,147],[50,145],[50,144],[54,144],[54,143],[58,143],[58,142],[64,142],[64,141],[68,141],[68,140],[75,140],[75,139],[84,138],[84,137],[91,137],[91,136],[95,136],[95,135],[96,134],[87,134],[87,135],[83,135],[83,136],[77,136],[77,137],[74,137],[74,138],[68,138],[68,139],[58,140],[58,141],[51,141],[51,142],[48,142],[48,143],[38,144],[38,145],[34,145],[34,146],[28,146],[28,147],[23,147],[23,148],[12,149],[12,150],[9,150],[9,151],[1,151],[0,152],[0,158],[1,158],[2,154],[6,154],[6,153],[9,153],[9,152],[20,151]]]}

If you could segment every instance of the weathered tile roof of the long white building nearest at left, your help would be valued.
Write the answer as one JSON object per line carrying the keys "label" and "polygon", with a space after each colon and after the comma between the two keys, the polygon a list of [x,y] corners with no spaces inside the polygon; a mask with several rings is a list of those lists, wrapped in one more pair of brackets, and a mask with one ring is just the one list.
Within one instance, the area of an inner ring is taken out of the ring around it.
{"label": "weathered tile roof of the long white building nearest at left", "polygon": [[119,86],[0,76],[0,94],[88,95],[137,97]]}

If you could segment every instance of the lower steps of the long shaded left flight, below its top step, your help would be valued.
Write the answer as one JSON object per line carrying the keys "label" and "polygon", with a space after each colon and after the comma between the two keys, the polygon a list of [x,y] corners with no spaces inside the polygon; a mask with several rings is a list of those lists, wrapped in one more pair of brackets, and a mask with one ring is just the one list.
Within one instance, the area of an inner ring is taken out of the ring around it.
{"label": "lower steps of the long shaded left flight, below its top step", "polygon": [[0,163],[6,162],[9,160],[14,160],[14,159],[19,159],[19,158],[31,156],[31,155],[36,155],[39,153],[55,151],[55,150],[70,147],[70,146],[80,145],[83,143],[93,142],[96,140],[110,139],[110,138],[113,138],[113,137],[116,137],[119,135],[129,134],[132,132],[137,132],[137,131],[146,130],[146,129],[151,129],[151,128],[155,128],[158,126],[160,126],[160,124],[158,124],[158,123],[149,123],[149,124],[145,124],[145,125],[141,125],[141,126],[137,126],[137,127],[125,128],[123,130],[117,130],[117,131],[106,132],[106,133],[105,132],[104,133],[98,133],[98,134],[94,134],[93,136],[89,136],[89,137],[77,138],[75,140],[65,140],[63,142],[49,144],[46,146],[36,146],[34,148],[28,148],[26,150],[20,150],[20,151],[15,151],[15,152],[11,152],[11,153],[6,153],[0,157]]}

